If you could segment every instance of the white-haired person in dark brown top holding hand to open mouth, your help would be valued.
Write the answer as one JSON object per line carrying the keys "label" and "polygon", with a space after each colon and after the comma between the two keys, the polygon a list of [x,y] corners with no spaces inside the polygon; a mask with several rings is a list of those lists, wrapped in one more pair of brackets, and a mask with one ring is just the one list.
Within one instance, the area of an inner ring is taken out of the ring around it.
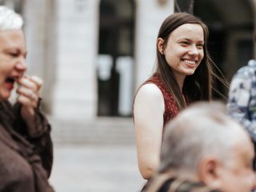
{"label": "white-haired person in dark brown top holding hand to open mouth", "polygon": [[[0,6],[0,191],[53,192],[50,125],[39,110],[42,80],[26,72],[23,21]],[[18,83],[17,102],[8,99]]]}

